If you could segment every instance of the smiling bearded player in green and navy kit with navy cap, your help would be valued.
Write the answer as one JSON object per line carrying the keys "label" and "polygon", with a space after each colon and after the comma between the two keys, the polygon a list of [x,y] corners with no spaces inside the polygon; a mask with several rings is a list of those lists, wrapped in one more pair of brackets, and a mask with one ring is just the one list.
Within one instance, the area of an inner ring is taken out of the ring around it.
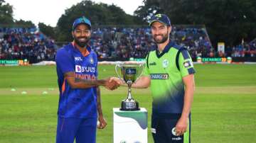
{"label": "smiling bearded player in green and navy kit with navy cap", "polygon": [[[151,132],[154,142],[189,143],[195,90],[192,59],[185,48],[169,39],[171,21],[168,16],[157,14],[151,18],[149,25],[157,48],[146,56],[144,74],[132,87],[151,88]],[[124,85],[121,80],[119,84]]]}

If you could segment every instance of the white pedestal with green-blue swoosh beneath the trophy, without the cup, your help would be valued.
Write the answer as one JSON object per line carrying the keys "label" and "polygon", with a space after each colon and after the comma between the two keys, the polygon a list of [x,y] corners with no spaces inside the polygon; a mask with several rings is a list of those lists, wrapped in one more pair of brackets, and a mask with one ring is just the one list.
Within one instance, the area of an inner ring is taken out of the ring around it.
{"label": "white pedestal with green-blue swoosh beneath the trophy, without the cup", "polygon": [[134,111],[113,108],[113,142],[148,142],[147,115],[146,108]]}

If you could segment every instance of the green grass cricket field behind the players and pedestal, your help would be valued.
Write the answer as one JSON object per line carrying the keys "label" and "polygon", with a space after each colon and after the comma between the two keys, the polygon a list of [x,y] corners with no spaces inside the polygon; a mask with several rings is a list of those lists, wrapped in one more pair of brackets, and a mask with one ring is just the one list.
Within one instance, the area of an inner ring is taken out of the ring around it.
{"label": "green grass cricket field behind the players and pedestal", "polygon": [[[196,64],[195,68],[192,142],[256,142],[256,64]],[[114,67],[101,65],[99,74],[100,78],[114,76]],[[113,141],[112,108],[120,106],[126,93],[124,87],[116,91],[102,88],[108,125],[97,130],[97,143]],[[150,129],[150,90],[132,93],[140,107],[149,111]],[[0,143],[55,142],[57,108],[54,66],[0,67]],[[150,132],[148,140],[153,142]]]}

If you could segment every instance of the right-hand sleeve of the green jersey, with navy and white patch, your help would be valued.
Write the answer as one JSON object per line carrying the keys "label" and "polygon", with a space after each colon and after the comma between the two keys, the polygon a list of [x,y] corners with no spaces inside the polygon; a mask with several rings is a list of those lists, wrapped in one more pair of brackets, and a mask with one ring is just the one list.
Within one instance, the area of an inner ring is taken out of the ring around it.
{"label": "right-hand sleeve of the green jersey, with navy and white patch", "polygon": [[178,58],[178,65],[180,67],[182,77],[196,73],[193,67],[193,61],[187,50],[181,51]]}

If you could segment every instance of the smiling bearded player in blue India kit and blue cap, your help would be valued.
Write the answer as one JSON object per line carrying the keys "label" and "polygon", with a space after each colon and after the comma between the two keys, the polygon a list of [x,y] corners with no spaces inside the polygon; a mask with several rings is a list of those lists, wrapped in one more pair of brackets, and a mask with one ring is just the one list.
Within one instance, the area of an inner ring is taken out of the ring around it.
{"label": "smiling bearded player in blue India kit and blue cap", "polygon": [[60,91],[56,143],[94,143],[97,120],[98,128],[107,125],[99,86],[113,90],[119,84],[110,78],[97,79],[97,55],[87,44],[90,21],[85,17],[76,19],[72,35],[74,41],[60,48],[55,58]]}

